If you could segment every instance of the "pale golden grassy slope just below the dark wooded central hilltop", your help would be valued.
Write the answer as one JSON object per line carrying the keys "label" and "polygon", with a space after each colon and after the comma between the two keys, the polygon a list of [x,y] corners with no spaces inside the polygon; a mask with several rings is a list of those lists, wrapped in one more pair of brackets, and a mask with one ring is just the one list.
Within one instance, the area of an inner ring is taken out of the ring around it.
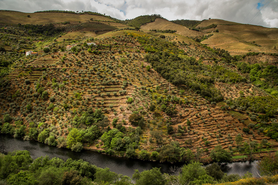
{"label": "pale golden grassy slope just below the dark wooded central hilltop", "polygon": [[195,36],[202,36],[203,33],[198,32],[198,31],[193,31],[185,26],[181,26],[175,23],[172,23],[166,19],[155,19],[155,22],[153,23],[148,23],[146,25],[141,26],[141,30],[143,31],[148,31],[152,29],[160,29],[160,30],[177,30],[177,34],[182,35],[182,36],[189,36],[189,37],[195,37]]}

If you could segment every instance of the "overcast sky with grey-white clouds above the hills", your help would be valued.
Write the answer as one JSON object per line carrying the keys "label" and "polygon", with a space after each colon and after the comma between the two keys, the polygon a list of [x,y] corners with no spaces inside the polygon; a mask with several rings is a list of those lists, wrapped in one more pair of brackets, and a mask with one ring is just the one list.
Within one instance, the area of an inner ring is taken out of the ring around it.
{"label": "overcast sky with grey-white clouds above the hills", "polygon": [[214,18],[278,28],[278,0],[0,0],[0,9],[93,11],[121,20],[160,14],[168,20]]}

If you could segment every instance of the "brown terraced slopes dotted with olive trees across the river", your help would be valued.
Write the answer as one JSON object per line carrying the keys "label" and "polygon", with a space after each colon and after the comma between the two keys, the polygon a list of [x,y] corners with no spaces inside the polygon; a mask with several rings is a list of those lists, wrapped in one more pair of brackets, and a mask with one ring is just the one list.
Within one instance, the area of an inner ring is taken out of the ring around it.
{"label": "brown terraced slopes dotted with olive trees across the river", "polygon": [[[55,99],[56,107],[64,104],[69,106],[69,113],[61,114],[60,117],[55,116],[52,111],[42,111],[42,116],[46,118],[45,123],[54,126],[59,135],[68,132],[67,127],[72,124],[73,119],[71,112],[80,112],[88,107],[101,108],[110,122],[117,118],[129,129],[128,127],[134,127],[128,121],[129,116],[133,111],[140,110],[147,120],[147,127],[143,130],[140,141],[141,150],[153,152],[158,147],[157,143],[148,141],[148,138],[152,138],[152,131],[161,131],[165,138],[164,144],[177,141],[180,147],[190,147],[195,152],[199,147],[203,148],[206,155],[202,158],[207,160],[209,150],[215,145],[224,148],[231,146],[235,149],[235,136],[239,133],[244,135],[240,127],[255,123],[235,111],[227,114],[221,106],[209,104],[188,87],[174,86],[153,69],[147,70],[149,64],[143,58],[144,50],[135,38],[124,35],[102,37],[96,39],[95,43],[99,46],[100,54],[83,50],[78,55],[71,51],[52,56],[44,55],[26,63],[23,71],[17,69],[7,76],[11,84],[18,84],[19,92],[24,96],[29,96],[28,89],[36,88],[37,82],[40,82],[48,96]],[[186,49],[189,56],[197,59],[200,55],[205,58],[217,57],[200,46],[189,45],[182,49]],[[28,87],[20,85],[25,80],[31,82]],[[128,102],[129,97],[132,98],[131,103]],[[177,113],[167,115],[160,111],[161,100],[169,101],[169,105],[174,106]],[[23,101],[19,104],[24,106],[26,103]],[[41,106],[45,109],[50,104],[52,103],[47,101]],[[151,104],[157,107],[153,112],[148,111]],[[41,106],[34,105],[33,109]],[[24,117],[26,113],[16,111],[15,114]],[[28,125],[28,122],[36,120],[38,121],[38,117],[33,115],[26,117],[24,122]],[[171,120],[173,132],[170,135],[167,133],[169,126],[165,120]],[[245,122],[240,122],[242,120]],[[256,128],[259,126],[256,125]],[[254,134],[253,138],[257,141],[266,138],[261,134]],[[248,139],[248,136],[244,138]],[[191,141],[190,146],[188,141]],[[101,139],[88,144],[86,148],[100,149],[95,146],[98,142],[101,142]]]}

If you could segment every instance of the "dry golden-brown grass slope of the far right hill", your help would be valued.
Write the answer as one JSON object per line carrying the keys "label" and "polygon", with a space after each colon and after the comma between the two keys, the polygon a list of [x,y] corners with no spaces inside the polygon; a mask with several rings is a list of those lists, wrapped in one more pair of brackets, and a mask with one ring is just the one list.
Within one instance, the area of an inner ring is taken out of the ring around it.
{"label": "dry golden-brown grass slope of the far right hill", "polygon": [[[241,24],[218,25],[217,29],[219,29],[219,33],[214,33],[214,36],[202,41],[202,43],[209,44],[210,47],[228,50],[232,55],[247,52],[277,53],[277,50],[273,49],[278,43],[277,28]],[[240,41],[249,43],[255,41],[255,44],[262,47]]]}

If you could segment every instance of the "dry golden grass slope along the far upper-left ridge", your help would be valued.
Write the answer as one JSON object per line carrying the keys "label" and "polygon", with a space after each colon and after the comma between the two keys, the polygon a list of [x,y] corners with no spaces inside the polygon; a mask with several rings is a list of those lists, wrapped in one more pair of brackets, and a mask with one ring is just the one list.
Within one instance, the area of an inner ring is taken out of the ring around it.
{"label": "dry golden grass slope along the far upper-left ridge", "polygon": [[[30,15],[31,17],[27,17]],[[69,13],[56,13],[56,12],[45,12],[45,13],[24,13],[17,11],[0,11],[0,23],[7,24],[49,24],[49,23],[60,23],[70,21],[70,23],[85,23],[94,20],[101,21],[113,21],[107,17],[97,15],[78,15]]]}

